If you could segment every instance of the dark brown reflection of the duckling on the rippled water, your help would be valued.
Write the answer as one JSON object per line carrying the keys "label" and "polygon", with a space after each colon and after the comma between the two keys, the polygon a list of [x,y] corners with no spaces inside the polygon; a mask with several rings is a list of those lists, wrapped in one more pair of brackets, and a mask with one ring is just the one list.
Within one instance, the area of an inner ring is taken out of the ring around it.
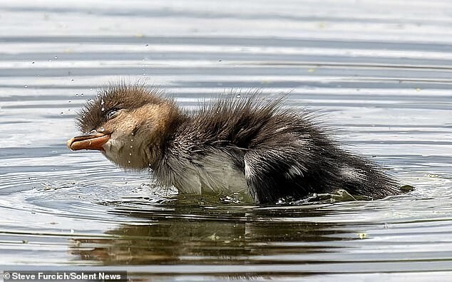
{"label": "dark brown reflection of the duckling on the rippled water", "polygon": [[[115,208],[113,213],[145,221],[107,231],[114,239],[76,239],[71,250],[83,259],[106,264],[253,263],[300,251],[328,252],[329,248],[300,243],[332,241],[335,233],[343,233],[331,228],[331,223],[274,221],[285,209],[262,212],[243,206],[181,207],[179,203],[160,205],[157,211]],[[303,208],[302,214],[310,212],[321,213],[310,207]],[[262,258],[250,260],[257,256]]]}

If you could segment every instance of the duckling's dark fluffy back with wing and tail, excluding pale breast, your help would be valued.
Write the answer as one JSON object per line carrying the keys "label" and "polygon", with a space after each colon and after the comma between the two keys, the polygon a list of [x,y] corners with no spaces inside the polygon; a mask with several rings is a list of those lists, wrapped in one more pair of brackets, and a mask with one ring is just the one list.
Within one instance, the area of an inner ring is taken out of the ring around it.
{"label": "duckling's dark fluffy back with wing and tail, excluding pale breast", "polygon": [[398,193],[379,166],[340,148],[312,115],[283,109],[283,100],[258,93],[219,99],[189,115],[176,134],[192,152],[228,146],[260,203],[337,189],[374,198]]}

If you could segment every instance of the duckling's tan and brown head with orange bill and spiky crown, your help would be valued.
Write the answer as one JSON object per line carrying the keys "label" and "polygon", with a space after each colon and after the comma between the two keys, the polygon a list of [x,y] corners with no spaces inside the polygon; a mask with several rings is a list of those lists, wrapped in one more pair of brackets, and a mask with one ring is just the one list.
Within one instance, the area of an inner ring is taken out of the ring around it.
{"label": "duckling's tan and brown head with orange bill and spiky crown", "polygon": [[78,113],[76,124],[83,134],[67,145],[73,151],[101,151],[122,168],[145,169],[162,158],[178,116],[177,106],[158,89],[109,86]]}

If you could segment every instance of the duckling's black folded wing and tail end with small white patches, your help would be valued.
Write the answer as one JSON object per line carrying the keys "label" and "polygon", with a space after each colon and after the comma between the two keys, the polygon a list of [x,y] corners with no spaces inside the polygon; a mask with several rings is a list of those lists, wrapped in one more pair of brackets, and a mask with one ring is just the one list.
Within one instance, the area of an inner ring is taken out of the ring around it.
{"label": "duckling's black folded wing and tail end with small white patches", "polygon": [[331,153],[332,149],[314,154],[282,145],[250,149],[244,156],[250,194],[255,202],[277,203],[279,198],[299,199],[337,189],[372,198],[399,193],[396,181],[374,163],[337,148]]}

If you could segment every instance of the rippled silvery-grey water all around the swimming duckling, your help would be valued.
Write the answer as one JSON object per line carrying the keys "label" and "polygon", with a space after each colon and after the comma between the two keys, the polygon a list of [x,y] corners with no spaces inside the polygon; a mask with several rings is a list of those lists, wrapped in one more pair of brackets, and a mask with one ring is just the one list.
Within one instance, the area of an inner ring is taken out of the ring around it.
{"label": "rippled silvery-grey water all around the swimming duckling", "polygon": [[[450,1],[1,1],[0,271],[140,281],[450,281]],[[111,81],[195,108],[289,92],[415,191],[253,206],[157,193],[148,173],[71,152]]]}

